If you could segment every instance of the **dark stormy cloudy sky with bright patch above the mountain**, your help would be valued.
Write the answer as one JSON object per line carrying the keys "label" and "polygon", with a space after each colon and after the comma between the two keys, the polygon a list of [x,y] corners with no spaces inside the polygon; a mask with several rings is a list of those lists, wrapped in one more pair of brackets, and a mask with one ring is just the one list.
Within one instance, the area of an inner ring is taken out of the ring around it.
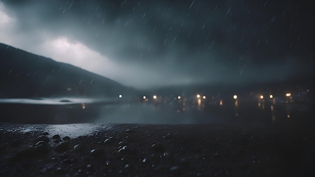
{"label": "dark stormy cloudy sky with bright patch above the mountain", "polygon": [[313,74],[312,1],[0,0],[0,42],[136,88]]}

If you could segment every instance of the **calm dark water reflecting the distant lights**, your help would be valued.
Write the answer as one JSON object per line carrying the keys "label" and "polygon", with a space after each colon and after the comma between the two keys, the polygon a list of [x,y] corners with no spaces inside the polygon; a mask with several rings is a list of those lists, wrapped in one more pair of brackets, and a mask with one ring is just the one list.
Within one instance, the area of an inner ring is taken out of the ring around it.
{"label": "calm dark water reflecting the distant lights", "polygon": [[134,123],[204,124],[307,122],[313,108],[307,102],[269,100],[171,100],[117,102],[97,99],[2,99],[0,120],[10,123]]}

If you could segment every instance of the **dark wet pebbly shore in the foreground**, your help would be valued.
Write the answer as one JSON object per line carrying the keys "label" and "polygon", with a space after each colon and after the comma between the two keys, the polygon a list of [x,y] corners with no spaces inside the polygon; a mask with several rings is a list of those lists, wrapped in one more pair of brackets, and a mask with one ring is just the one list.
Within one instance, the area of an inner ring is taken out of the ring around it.
{"label": "dark wet pebbly shore in the foreground", "polygon": [[1,176],[314,176],[313,133],[296,125],[0,127]]}

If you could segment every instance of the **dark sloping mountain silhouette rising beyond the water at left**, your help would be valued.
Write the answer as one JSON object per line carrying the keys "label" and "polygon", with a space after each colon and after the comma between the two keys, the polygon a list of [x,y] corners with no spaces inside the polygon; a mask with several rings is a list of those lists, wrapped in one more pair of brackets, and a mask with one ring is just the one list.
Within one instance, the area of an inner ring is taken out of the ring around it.
{"label": "dark sloping mountain silhouette rising beyond the water at left", "polygon": [[87,70],[0,44],[0,98],[117,97],[133,91]]}

